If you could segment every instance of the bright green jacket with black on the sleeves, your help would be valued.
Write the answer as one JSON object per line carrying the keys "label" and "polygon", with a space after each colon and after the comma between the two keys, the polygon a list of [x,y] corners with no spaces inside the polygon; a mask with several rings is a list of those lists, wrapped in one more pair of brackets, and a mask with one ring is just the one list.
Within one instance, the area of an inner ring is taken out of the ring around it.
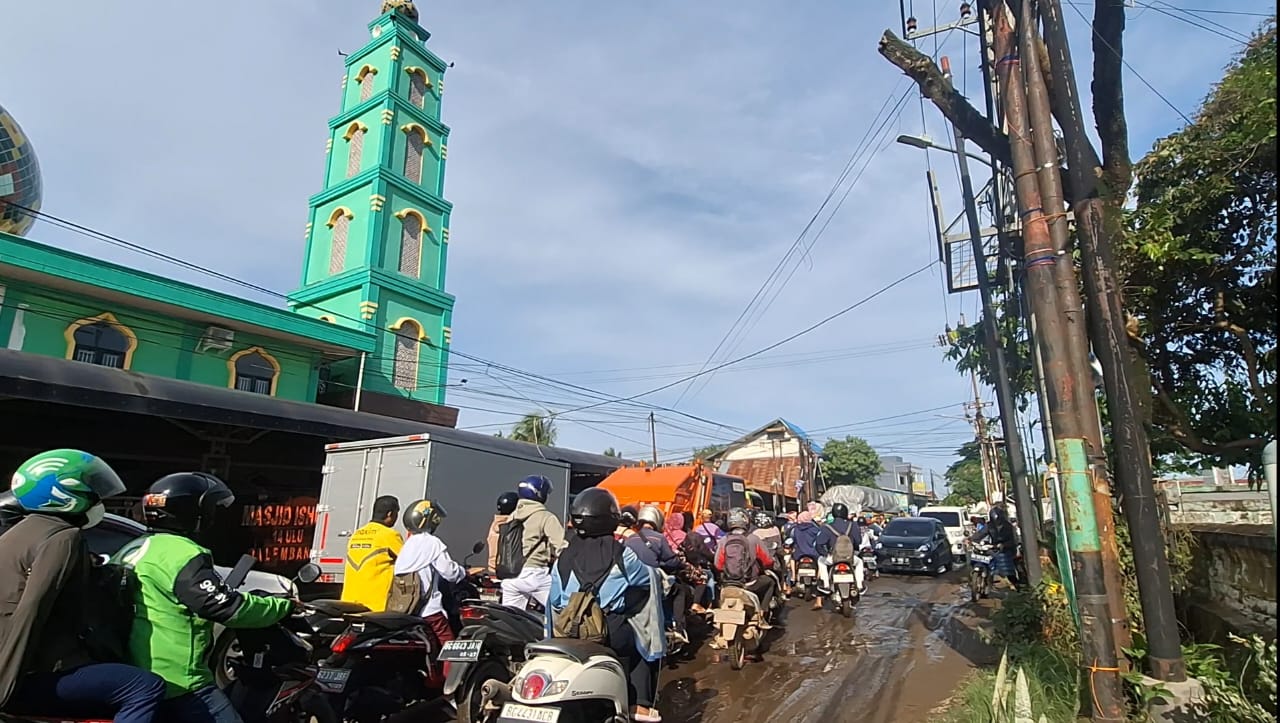
{"label": "bright green jacket with black on the sleeves", "polygon": [[266,627],[293,604],[228,587],[207,549],[179,535],[143,535],[115,553],[114,562],[138,578],[138,608],[129,632],[131,663],[164,678],[166,697],[214,685],[209,653],[214,623]]}

